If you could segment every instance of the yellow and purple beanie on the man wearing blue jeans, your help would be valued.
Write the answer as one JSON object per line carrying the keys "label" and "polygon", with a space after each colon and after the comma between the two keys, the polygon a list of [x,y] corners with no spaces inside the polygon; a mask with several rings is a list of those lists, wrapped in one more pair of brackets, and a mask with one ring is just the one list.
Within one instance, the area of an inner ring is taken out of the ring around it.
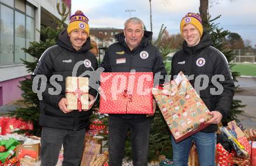
{"label": "yellow and purple beanie on the man wearing blue jeans", "polygon": [[202,19],[200,15],[195,13],[187,13],[185,17],[182,18],[180,21],[180,34],[182,35],[182,29],[186,24],[192,24],[195,28],[198,29],[200,36],[202,37],[202,32],[204,29],[202,28]]}

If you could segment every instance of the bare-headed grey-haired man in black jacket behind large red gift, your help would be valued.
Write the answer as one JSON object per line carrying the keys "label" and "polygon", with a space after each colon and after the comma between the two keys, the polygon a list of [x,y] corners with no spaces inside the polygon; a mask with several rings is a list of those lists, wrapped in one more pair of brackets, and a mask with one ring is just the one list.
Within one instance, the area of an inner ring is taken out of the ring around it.
{"label": "bare-headed grey-haired man in black jacket behind large red gift", "polygon": [[[116,35],[118,42],[106,50],[101,67],[105,72],[130,72],[134,69],[136,72],[161,72],[161,75],[166,75],[159,50],[149,43],[151,37],[152,32],[144,31],[144,24],[140,19],[128,19],[123,33]],[[154,110],[155,107],[154,100]],[[109,115],[109,165],[122,165],[128,130],[133,165],[147,165],[151,121],[152,118],[146,115]]]}

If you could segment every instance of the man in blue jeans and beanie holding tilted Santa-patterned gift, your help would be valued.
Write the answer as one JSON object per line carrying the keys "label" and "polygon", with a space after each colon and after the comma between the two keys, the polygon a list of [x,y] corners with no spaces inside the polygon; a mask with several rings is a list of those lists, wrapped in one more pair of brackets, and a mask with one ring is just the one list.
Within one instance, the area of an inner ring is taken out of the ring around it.
{"label": "man in blue jeans and beanie holding tilted Santa-patterned gift", "polygon": [[[183,49],[172,58],[172,78],[180,71],[189,77],[190,83],[213,116],[209,126],[191,137],[176,143],[172,137],[173,163],[187,165],[192,142],[195,142],[200,165],[215,165],[217,124],[229,115],[234,95],[234,83],[226,57],[212,47],[209,34],[203,32],[198,14],[188,13],[180,23],[184,38]],[[217,79],[218,78],[218,79]]]}

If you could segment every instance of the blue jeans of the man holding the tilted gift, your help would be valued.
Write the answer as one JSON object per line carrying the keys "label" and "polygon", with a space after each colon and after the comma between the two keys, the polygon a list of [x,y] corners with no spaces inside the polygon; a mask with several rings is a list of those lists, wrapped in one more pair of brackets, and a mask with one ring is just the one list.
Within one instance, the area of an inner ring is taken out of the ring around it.
{"label": "blue jeans of the man holding the tilted gift", "polygon": [[172,137],[173,165],[187,166],[193,141],[197,149],[199,164],[215,166],[215,132],[197,132],[179,143],[176,143]]}

